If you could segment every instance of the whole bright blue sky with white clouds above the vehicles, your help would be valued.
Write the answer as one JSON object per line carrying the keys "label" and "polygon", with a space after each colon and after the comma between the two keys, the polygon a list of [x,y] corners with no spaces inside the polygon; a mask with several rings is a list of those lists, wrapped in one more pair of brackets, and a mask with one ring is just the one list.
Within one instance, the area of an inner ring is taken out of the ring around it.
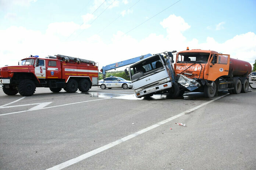
{"label": "whole bright blue sky with white clouds above the vehicles", "polygon": [[0,0],[0,66],[61,54],[100,70],[186,47],[253,64],[255,16],[256,0]]}

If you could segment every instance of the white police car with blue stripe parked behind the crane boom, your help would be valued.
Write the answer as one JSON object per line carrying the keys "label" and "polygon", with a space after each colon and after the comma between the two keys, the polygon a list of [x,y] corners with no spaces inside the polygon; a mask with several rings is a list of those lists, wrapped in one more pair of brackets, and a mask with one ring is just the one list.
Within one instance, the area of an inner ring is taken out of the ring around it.
{"label": "white police car with blue stripe parked behind the crane boom", "polygon": [[131,89],[132,83],[129,80],[125,80],[121,77],[106,77],[105,80],[99,81],[100,88],[123,88],[123,89]]}

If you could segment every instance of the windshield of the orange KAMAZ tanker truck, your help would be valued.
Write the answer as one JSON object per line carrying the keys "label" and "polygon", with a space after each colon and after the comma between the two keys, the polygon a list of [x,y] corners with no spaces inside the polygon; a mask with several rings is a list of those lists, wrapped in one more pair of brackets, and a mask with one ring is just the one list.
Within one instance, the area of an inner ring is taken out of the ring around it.
{"label": "windshield of the orange KAMAZ tanker truck", "polygon": [[178,56],[177,63],[207,63],[210,53],[186,52]]}

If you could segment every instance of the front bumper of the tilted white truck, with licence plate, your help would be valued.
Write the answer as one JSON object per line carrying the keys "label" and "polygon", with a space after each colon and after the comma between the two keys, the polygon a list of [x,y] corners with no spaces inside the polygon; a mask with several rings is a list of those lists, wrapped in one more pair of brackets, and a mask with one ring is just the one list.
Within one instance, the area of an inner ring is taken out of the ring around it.
{"label": "front bumper of the tilted white truck, with licence plate", "polygon": [[156,93],[156,92],[159,92],[159,91],[162,91],[162,90],[165,90],[165,89],[170,89],[171,87],[172,87],[171,82],[166,82],[164,84],[160,84],[160,85],[157,85],[157,86],[154,86],[154,87],[143,89],[142,91],[140,91],[138,93],[135,92],[135,96],[140,98],[140,97],[150,95],[152,93]]}

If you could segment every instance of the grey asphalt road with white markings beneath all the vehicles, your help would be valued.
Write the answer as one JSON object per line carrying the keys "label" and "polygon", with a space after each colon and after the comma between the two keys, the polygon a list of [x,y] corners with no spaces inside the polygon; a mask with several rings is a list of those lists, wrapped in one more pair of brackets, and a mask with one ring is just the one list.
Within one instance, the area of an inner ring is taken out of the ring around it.
{"label": "grey asphalt road with white markings beneath all the vehicles", "polygon": [[249,90],[175,100],[138,100],[133,89],[37,88],[31,97],[0,90],[0,169],[255,170],[256,90]]}

